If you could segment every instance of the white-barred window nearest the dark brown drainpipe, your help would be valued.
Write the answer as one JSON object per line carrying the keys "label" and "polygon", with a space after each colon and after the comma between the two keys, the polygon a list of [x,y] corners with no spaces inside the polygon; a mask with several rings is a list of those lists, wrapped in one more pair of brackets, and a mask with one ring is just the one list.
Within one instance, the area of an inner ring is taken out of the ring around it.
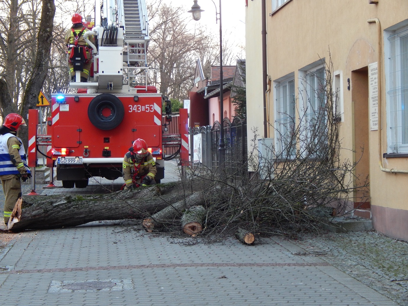
{"label": "white-barred window nearest the dark brown drainpipe", "polygon": [[[296,153],[296,144],[293,143],[293,140],[292,144],[289,144],[289,141],[292,137],[290,133],[293,133],[293,130],[296,128],[296,97],[294,72],[273,82],[273,97],[276,152],[278,155],[282,155],[282,158],[291,158]],[[278,101],[281,99],[283,101]],[[284,112],[282,112],[282,110]],[[284,145],[282,144],[282,141],[285,142]],[[288,146],[291,149],[290,152],[287,149],[284,151],[283,148]]]}

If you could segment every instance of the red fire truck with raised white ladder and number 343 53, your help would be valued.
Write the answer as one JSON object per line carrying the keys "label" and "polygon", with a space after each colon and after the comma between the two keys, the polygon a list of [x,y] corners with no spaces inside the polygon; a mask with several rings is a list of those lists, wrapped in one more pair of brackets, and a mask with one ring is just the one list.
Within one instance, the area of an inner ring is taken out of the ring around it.
{"label": "red fire truck with raised white ladder and number 343 53", "polygon": [[[56,166],[56,179],[62,181],[62,187],[85,188],[90,177],[121,177],[125,153],[134,140],[142,138],[155,158],[155,180],[160,182],[164,178],[165,145],[162,105],[168,115],[171,105],[147,82],[146,2],[103,0],[101,4],[96,0],[95,12],[95,18],[83,20],[89,29],[83,36],[93,53],[88,82],[80,82],[85,59],[78,50],[73,59],[76,78],[69,83],[73,93],[51,95],[47,135],[38,135],[36,128],[30,128],[38,122],[38,111],[29,111],[29,166],[36,160],[38,145],[46,144],[47,166]],[[185,120],[180,122],[186,123],[187,113],[183,114]],[[188,143],[186,129],[185,124],[183,134]],[[166,139],[181,145],[181,134],[173,136]]]}

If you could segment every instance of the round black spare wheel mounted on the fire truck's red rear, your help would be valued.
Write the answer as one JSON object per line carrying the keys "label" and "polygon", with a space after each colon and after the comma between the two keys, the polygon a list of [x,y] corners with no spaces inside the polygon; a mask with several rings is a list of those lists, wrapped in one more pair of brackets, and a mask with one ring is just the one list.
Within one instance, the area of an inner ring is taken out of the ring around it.
{"label": "round black spare wheel mounted on the fire truck's red rear", "polygon": [[125,110],[118,97],[102,93],[91,100],[88,106],[88,118],[101,130],[115,129],[122,122]]}

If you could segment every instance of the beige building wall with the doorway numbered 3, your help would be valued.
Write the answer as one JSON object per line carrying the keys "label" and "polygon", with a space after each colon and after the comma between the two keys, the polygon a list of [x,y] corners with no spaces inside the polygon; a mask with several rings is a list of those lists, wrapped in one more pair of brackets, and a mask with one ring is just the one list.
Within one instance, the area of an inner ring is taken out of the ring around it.
{"label": "beige building wall with the doorway numbered 3", "polygon": [[[251,4],[251,5],[250,5]],[[293,76],[295,95],[302,101],[302,77],[313,70],[322,59],[331,58],[333,70],[341,84],[340,94],[343,114],[341,116],[340,138],[346,149],[344,158],[359,160],[356,174],[369,175],[370,204],[373,223],[377,231],[391,237],[408,240],[408,174],[387,173],[384,168],[408,170],[408,158],[382,158],[387,153],[387,93],[388,75],[384,69],[384,46],[388,43],[388,32],[384,29],[396,24],[401,26],[408,19],[408,1],[379,0],[369,4],[368,0],[289,0],[272,12],[271,1],[267,4],[267,58],[268,75],[273,84],[286,76]],[[262,110],[262,54],[261,24],[258,17],[261,0],[248,3],[246,27],[247,61],[247,109],[248,139],[251,127],[263,122]],[[256,13],[255,13],[256,11]],[[379,131],[370,131],[368,65],[377,62],[379,44],[376,23],[367,20],[378,18],[381,24],[381,139]],[[407,22],[408,25],[408,22]],[[256,30],[256,32],[251,32]],[[251,35],[259,33],[259,35]],[[256,37],[254,37],[256,36]],[[249,41],[248,41],[249,40]],[[384,45],[384,40],[386,44]],[[255,46],[257,44],[257,46]],[[386,49],[386,48],[385,48]],[[253,58],[254,57],[254,58]],[[350,89],[348,89],[350,86]],[[270,123],[274,122],[274,90],[268,96]],[[262,129],[261,129],[262,131]],[[273,137],[273,132],[271,132]],[[361,149],[364,147],[364,153]],[[358,195],[355,195],[358,196]],[[358,202],[358,200],[355,200]]]}

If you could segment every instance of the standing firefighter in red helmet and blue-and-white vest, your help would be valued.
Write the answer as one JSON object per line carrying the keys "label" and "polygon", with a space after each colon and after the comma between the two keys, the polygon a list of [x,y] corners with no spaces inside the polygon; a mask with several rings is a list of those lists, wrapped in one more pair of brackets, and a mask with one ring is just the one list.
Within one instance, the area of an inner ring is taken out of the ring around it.
{"label": "standing firefighter in red helmet and blue-and-white vest", "polygon": [[21,197],[21,181],[31,177],[26,162],[24,146],[17,132],[20,126],[27,126],[24,119],[16,113],[4,118],[0,127],[0,179],[6,200],[4,202],[4,223],[9,222],[11,212],[19,197]]}

